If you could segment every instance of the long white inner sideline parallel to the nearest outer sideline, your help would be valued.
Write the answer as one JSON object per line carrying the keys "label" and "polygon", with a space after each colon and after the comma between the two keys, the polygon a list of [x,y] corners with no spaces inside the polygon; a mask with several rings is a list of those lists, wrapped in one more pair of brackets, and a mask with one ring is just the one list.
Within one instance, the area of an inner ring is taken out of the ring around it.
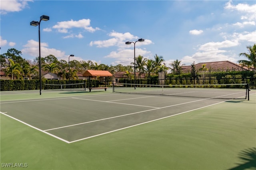
{"label": "long white inner sideline parallel to the nearest outer sideline", "polygon": [[[209,99],[209,98],[208,98],[208,99]],[[201,99],[201,100],[207,100],[207,99]],[[71,126],[76,126],[76,125],[82,125],[82,124],[86,124],[86,123],[92,123],[92,122],[102,121],[102,120],[107,120],[107,119],[114,119],[114,118],[116,118],[116,117],[123,117],[123,116],[127,116],[127,115],[134,115],[134,114],[143,113],[143,112],[146,112],[146,111],[152,111],[152,110],[156,110],[156,109],[163,109],[163,108],[167,108],[167,107],[173,107],[173,106],[178,106],[178,105],[182,105],[182,104],[188,104],[188,103],[198,102],[198,101],[201,101],[201,100],[195,100],[195,101],[186,102],[186,103],[181,103],[181,104],[174,104],[174,105],[171,105],[171,106],[157,107],[157,108],[154,108],[154,109],[149,109],[149,110],[144,110],[144,111],[138,111],[138,112],[128,113],[128,114],[125,114],[125,115],[119,115],[119,116],[114,116],[114,117],[108,117],[108,118],[105,118],[105,119],[98,119],[98,120],[88,121],[88,122],[83,122],[83,123],[78,123],[78,124],[74,124],[74,125],[67,125],[67,126],[62,126],[62,127],[56,127],[56,128],[47,129],[47,130],[44,130],[44,131],[50,131],[50,130],[55,130],[55,129],[61,129],[61,128],[64,128],[64,127],[71,127]],[[101,101],[100,101],[100,102],[101,102]],[[119,103],[118,103],[118,104],[119,104]]]}

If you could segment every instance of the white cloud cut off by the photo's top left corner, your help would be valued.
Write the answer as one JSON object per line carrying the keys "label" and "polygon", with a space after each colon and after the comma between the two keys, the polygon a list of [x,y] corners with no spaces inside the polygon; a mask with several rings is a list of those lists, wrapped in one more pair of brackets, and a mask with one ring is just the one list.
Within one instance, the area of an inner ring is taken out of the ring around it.
{"label": "white cloud cut off by the photo's top left corner", "polygon": [[1,0],[0,13],[19,12],[28,6],[32,0]]}

